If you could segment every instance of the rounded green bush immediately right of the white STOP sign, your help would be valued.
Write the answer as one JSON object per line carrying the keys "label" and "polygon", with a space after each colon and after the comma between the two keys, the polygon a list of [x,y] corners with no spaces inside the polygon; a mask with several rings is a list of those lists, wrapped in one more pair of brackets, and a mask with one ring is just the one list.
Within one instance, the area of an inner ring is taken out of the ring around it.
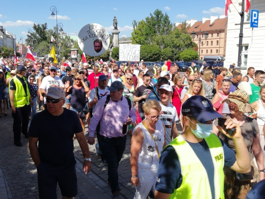
{"label": "rounded green bush immediately right of the white STOP sign", "polygon": [[161,49],[158,45],[142,45],[140,59],[148,61],[160,60]]}

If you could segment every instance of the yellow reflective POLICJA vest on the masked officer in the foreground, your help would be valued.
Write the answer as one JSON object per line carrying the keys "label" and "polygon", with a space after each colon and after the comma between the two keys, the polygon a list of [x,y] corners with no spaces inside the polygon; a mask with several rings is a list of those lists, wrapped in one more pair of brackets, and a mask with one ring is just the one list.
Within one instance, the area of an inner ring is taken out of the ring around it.
{"label": "yellow reflective POLICJA vest on the masked officer in the foreground", "polygon": [[[215,134],[205,138],[214,165],[215,199],[224,198],[224,152],[221,141]],[[191,146],[179,135],[168,146],[174,147],[181,165],[182,183],[170,198],[211,199],[212,193],[206,169]],[[188,155],[187,155],[188,154]]]}

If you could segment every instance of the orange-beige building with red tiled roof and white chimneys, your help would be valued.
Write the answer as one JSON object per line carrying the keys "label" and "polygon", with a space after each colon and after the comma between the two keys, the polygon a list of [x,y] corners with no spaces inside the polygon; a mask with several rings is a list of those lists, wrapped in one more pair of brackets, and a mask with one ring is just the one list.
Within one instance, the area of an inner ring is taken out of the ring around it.
{"label": "orange-beige building with red tiled roof and white chimneys", "polygon": [[[194,43],[197,45],[195,50],[198,50],[200,60],[204,56],[220,56],[225,57],[225,44],[226,44],[226,30],[227,30],[227,17],[225,15],[218,16],[212,15],[211,17],[202,17],[202,21],[197,19],[186,20],[188,25],[188,33],[195,32]],[[201,45],[199,47],[201,31]],[[208,38],[204,38],[204,33],[207,32]],[[200,52],[200,53],[199,53]]]}

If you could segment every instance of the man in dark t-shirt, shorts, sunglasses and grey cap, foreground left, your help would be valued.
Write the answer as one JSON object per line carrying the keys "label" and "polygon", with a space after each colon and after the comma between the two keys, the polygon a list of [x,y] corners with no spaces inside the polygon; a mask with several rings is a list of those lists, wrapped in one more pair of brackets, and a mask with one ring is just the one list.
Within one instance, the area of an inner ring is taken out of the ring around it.
{"label": "man in dark t-shirt, shorts, sunglasses and grey cap, foreground left", "polygon": [[[56,198],[57,182],[63,198],[72,198],[77,195],[72,137],[76,135],[83,152],[86,174],[91,170],[88,144],[77,113],[62,107],[64,90],[50,87],[45,97],[47,109],[33,117],[29,128],[29,149],[37,168],[39,198]],[[40,127],[37,122],[40,120],[46,125]]]}

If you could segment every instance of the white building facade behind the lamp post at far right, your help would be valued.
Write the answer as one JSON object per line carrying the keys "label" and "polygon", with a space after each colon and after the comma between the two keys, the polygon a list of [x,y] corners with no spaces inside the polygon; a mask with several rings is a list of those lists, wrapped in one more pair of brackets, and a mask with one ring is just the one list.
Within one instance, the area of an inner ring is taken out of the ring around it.
{"label": "white building facade behind the lamp post at far right", "polygon": [[[230,4],[231,12],[228,14],[227,25],[227,42],[225,66],[228,67],[238,60],[239,46],[239,31],[240,31],[240,16],[238,11],[241,11],[241,0],[232,0]],[[251,9],[258,10],[258,28],[250,27],[250,12]],[[243,25],[243,42],[241,49],[241,69],[254,67],[256,70],[264,70],[265,62],[265,1],[255,0],[250,1],[248,13],[244,13]]]}

